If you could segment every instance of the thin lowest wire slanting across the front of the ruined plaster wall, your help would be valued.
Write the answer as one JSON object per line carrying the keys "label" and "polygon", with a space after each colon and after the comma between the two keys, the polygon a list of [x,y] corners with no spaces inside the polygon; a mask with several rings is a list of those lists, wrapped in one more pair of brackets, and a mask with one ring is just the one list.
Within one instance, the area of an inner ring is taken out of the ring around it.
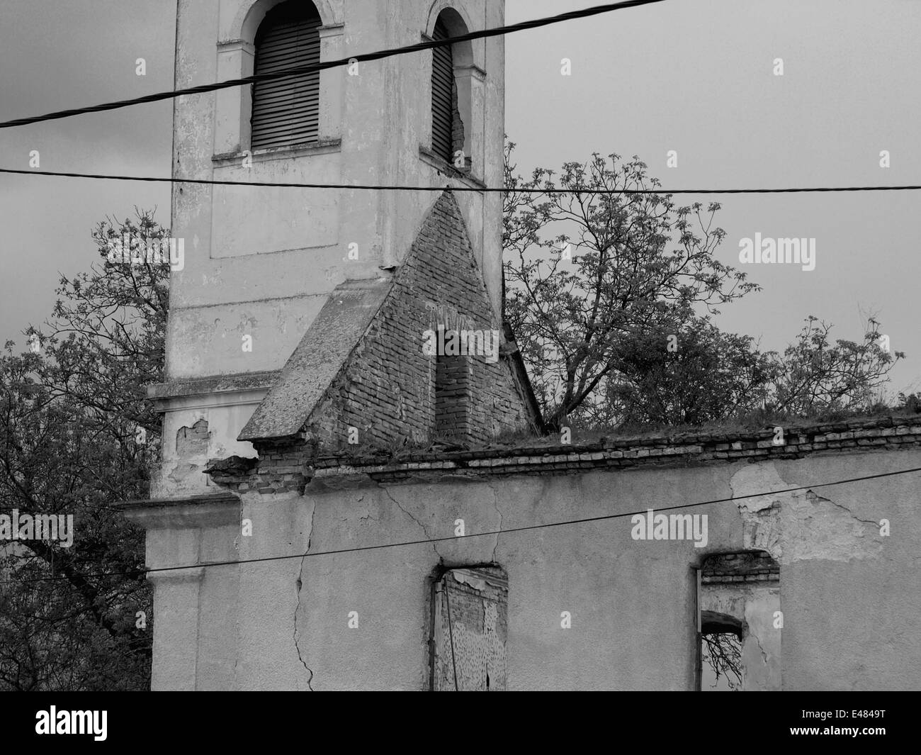
{"label": "thin lowest wire slanting across the front of the ruined plaster wall", "polygon": [[[794,493],[799,490],[815,490],[816,488],[829,488],[834,485],[846,485],[853,482],[863,482],[869,479],[880,479],[880,478],[891,478],[897,475],[910,475],[915,472],[921,472],[921,466],[915,466],[911,469],[899,469],[895,472],[881,472],[878,475],[865,475],[859,478],[846,478],[838,479],[834,482],[819,482],[814,485],[800,485],[797,488],[785,488],[784,490],[766,490],[760,493],[748,493],[746,495],[732,496],[731,498],[717,498],[712,501],[699,501],[697,503],[680,503],[676,506],[662,506],[658,509],[655,509],[657,513],[659,512],[670,512],[675,511],[676,509],[690,509],[697,506],[709,506],[714,503],[728,503],[731,501],[745,501],[750,498],[763,498],[764,496],[772,495],[782,495],[785,493]],[[510,527],[509,529],[497,529],[491,532],[476,532],[472,535],[461,535],[461,536],[450,536],[450,537],[429,537],[424,540],[407,540],[399,543],[383,543],[376,546],[359,546],[357,548],[344,548],[336,550],[318,550],[313,553],[296,553],[290,556],[265,556],[261,559],[244,559],[244,560],[230,560],[230,561],[210,561],[206,563],[192,563],[186,564],[184,566],[162,566],[157,567],[156,569],[139,569],[133,572],[99,572],[95,574],[85,574],[86,578],[89,577],[116,577],[116,576],[136,576],[137,574],[147,573],[152,574],[156,572],[180,572],[186,569],[204,569],[208,566],[238,566],[245,563],[265,563],[267,561],[281,561],[281,560],[293,560],[293,559],[306,559],[309,557],[316,556],[335,556],[341,555],[344,553],[362,553],[368,550],[382,550],[389,548],[405,548],[408,546],[417,546],[417,545],[431,545],[432,543],[443,543],[449,540],[465,540],[472,537],[496,537],[499,535],[511,535],[518,532],[529,532],[536,529],[548,529],[550,527],[561,527],[567,525],[586,525],[594,522],[605,522],[609,519],[621,519],[624,516],[636,516],[637,514],[645,514],[646,511],[641,512],[627,512],[627,513],[609,513],[603,516],[589,516],[584,519],[566,519],[562,522],[550,522],[546,525],[526,525],[523,527]],[[6,582],[0,582],[0,584],[13,584],[13,583],[30,583],[30,582],[47,582],[50,580],[61,580],[65,579],[63,577],[37,577],[35,579],[29,580],[6,580]]]}

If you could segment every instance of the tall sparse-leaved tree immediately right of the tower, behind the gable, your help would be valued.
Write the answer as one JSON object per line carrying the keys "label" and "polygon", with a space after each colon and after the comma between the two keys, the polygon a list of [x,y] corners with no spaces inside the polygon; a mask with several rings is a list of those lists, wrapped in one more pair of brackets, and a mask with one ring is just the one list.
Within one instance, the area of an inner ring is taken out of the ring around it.
{"label": "tall sparse-leaved tree immediately right of the tower, behind the gable", "polygon": [[[755,290],[713,252],[717,203],[676,206],[634,157],[515,175],[507,146],[506,314],[550,427],[624,365],[624,339]],[[540,194],[523,194],[538,189]],[[562,190],[562,193],[559,193]],[[647,192],[647,193],[635,193]]]}

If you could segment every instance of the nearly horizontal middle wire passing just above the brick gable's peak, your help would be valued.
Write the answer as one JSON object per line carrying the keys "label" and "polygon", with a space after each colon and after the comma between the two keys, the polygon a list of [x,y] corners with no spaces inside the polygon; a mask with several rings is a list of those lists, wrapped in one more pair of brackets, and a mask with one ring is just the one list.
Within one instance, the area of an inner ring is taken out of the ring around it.
{"label": "nearly horizontal middle wire passing just above the brick gable's peak", "polygon": [[530,195],[673,195],[673,194],[805,194],[814,192],[908,192],[921,189],[921,184],[901,186],[811,186],[777,189],[506,189],[498,186],[412,186],[375,183],[286,183],[259,181],[221,181],[206,178],[160,178],[157,176],[124,176],[104,173],[73,173],[63,171],[26,171],[0,168],[0,173],[17,175],[56,176],[58,178],[88,178],[100,181],[138,181],[154,183],[193,183],[205,186],[266,186],[274,189],[354,189],[356,191],[391,192],[473,192],[481,194]]}

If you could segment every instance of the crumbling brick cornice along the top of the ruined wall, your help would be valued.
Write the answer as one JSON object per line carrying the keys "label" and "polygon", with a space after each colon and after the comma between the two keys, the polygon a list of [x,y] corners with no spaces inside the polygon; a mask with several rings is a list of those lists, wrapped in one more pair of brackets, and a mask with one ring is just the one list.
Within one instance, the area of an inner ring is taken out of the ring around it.
{"label": "crumbling brick cornice along the top of the ruined wall", "polygon": [[739,461],[801,459],[810,454],[892,451],[921,446],[921,417],[851,419],[785,428],[785,444],[775,445],[774,431],[685,433],[606,439],[581,445],[485,449],[448,454],[406,454],[399,463],[381,465],[372,458],[321,456],[318,476],[367,475],[379,481],[437,479],[470,475],[560,475],[587,469],[636,466],[698,466]]}

